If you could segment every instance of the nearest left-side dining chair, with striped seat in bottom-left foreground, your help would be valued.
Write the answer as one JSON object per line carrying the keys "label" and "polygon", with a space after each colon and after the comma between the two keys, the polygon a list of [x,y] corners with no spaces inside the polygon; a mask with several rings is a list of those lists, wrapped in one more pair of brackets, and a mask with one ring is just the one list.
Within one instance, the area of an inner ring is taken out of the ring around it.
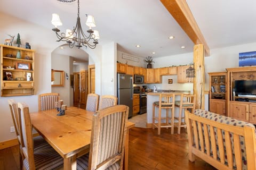
{"label": "nearest left-side dining chair, with striped seat in bottom-left foreground", "polygon": [[18,115],[20,117],[22,153],[24,156],[22,169],[43,170],[63,166],[63,158],[48,143],[34,148],[29,108],[25,103],[18,103]]}

